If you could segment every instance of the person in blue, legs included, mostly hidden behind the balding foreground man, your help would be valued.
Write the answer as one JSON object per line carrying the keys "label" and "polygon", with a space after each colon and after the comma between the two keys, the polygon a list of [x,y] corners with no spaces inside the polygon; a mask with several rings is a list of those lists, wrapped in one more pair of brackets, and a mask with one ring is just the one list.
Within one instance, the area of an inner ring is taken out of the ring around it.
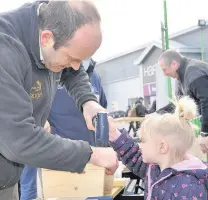
{"label": "person in blue, legs included, mostly hidden behind the balding foreground man", "polygon": [[[99,104],[106,108],[107,100],[99,75],[94,71],[96,62],[88,59],[82,62],[91,82],[91,89],[96,94]],[[64,74],[64,72],[62,73]],[[59,86],[48,118],[52,134],[72,140],[84,140],[95,146],[95,132],[88,130],[84,117],[66,88]],[[20,180],[21,200],[37,198],[37,168],[25,166]]]}

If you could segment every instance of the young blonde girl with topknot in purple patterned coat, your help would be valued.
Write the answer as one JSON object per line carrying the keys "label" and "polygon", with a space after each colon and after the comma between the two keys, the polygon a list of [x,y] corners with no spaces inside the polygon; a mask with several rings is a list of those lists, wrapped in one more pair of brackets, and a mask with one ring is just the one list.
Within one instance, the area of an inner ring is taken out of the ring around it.
{"label": "young blonde girl with topknot in purple patterned coat", "polygon": [[110,141],[124,165],[145,180],[146,200],[208,200],[208,167],[186,153],[194,141],[188,119],[196,105],[179,100],[174,114],[146,117],[136,144],[110,119]]}

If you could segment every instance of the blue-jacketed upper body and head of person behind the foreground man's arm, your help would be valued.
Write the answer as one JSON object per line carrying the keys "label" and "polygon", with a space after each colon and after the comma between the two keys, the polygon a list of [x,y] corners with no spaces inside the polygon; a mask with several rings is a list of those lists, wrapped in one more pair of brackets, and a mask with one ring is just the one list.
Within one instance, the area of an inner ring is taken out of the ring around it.
{"label": "blue-jacketed upper body and head of person behind the foreground man's arm", "polygon": [[[99,104],[107,108],[107,99],[104,93],[100,76],[94,71],[96,62],[92,59],[82,62],[91,82],[91,90],[96,95]],[[57,89],[48,121],[51,132],[72,140],[84,140],[95,146],[94,131],[89,131],[83,114],[76,107],[74,99],[68,95],[66,89],[59,86]],[[71,124],[67,122],[72,122]],[[80,134],[77,134],[80,132]]]}

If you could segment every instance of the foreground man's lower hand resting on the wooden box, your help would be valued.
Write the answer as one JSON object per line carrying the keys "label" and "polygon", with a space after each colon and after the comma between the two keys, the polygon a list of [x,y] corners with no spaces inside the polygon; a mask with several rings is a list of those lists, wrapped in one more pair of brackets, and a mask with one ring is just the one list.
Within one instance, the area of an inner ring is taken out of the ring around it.
{"label": "foreground man's lower hand resting on the wooden box", "polygon": [[92,147],[89,163],[106,168],[106,174],[114,174],[118,168],[118,158],[112,148]]}

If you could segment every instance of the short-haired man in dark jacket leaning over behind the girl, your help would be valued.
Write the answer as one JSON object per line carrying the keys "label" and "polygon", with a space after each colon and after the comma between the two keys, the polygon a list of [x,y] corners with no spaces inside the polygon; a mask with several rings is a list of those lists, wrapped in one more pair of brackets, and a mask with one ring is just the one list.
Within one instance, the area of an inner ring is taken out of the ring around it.
{"label": "short-haired man in dark jacket leaning over behind the girl", "polygon": [[159,65],[165,76],[178,80],[180,95],[189,95],[196,101],[202,124],[200,146],[208,153],[208,64],[167,50],[160,56]]}

